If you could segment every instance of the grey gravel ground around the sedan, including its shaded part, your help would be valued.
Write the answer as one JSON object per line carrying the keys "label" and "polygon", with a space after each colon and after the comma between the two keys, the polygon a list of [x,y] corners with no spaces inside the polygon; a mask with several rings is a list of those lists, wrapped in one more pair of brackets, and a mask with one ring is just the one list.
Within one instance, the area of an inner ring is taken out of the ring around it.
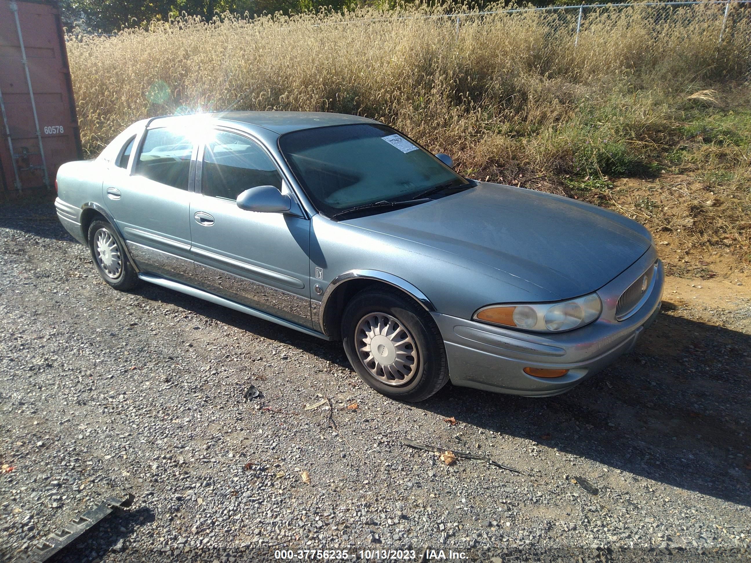
{"label": "grey gravel ground around the sedan, including its shaded part", "polygon": [[[662,313],[562,396],[448,385],[407,405],[363,384],[338,343],[110,289],[51,204],[0,209],[0,292],[0,560],[128,492],[59,561],[418,561],[426,546],[493,563],[751,560],[748,300]],[[246,400],[251,385],[262,396]],[[305,410],[324,398],[333,409]],[[521,473],[447,466],[403,439]]]}

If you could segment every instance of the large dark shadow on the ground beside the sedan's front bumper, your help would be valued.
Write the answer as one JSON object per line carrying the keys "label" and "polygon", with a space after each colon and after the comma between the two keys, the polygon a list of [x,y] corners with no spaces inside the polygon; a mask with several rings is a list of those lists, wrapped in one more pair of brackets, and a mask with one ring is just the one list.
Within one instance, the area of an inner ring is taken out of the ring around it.
{"label": "large dark shadow on the ground beside the sedan's front bumper", "polygon": [[749,335],[662,313],[632,354],[569,393],[529,399],[447,386],[416,407],[749,506],[748,351]]}

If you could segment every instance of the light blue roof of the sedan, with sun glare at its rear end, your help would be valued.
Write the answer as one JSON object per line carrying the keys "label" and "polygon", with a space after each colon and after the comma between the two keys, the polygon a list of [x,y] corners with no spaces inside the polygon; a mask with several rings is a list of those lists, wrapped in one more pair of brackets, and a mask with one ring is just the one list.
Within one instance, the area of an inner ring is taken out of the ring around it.
{"label": "light blue roof of the sedan, with sun glare at its rear end", "polygon": [[173,122],[183,119],[189,120],[197,115],[211,116],[217,121],[237,122],[247,125],[255,125],[273,131],[276,134],[285,134],[300,129],[327,127],[329,125],[350,125],[352,123],[378,123],[373,119],[360,116],[350,116],[345,113],[327,113],[313,111],[225,111],[206,114],[189,114],[184,116],[164,116],[152,119],[150,127],[164,127]]}

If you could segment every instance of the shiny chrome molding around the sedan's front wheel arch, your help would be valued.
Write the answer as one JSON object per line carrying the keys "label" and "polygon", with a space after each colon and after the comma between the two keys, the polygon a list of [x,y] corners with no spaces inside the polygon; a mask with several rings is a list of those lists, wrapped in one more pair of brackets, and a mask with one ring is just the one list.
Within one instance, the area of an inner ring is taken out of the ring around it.
{"label": "shiny chrome molding around the sedan's front wheel arch", "polygon": [[[369,285],[385,284],[412,297],[427,312],[436,312],[433,302],[419,288],[406,279],[377,269],[351,269],[333,278],[321,298],[318,322],[321,331],[334,339],[340,338],[339,322],[345,298]],[[348,291],[349,290],[349,291]],[[337,306],[338,305],[338,306]]]}

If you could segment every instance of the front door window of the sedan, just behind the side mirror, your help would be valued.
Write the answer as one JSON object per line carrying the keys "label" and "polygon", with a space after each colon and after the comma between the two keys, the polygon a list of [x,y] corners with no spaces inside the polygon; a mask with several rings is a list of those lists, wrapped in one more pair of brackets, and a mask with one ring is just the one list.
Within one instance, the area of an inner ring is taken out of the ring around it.
{"label": "front door window of the sedan, just behind the side mirror", "polygon": [[204,149],[201,191],[204,195],[237,200],[258,185],[282,189],[282,176],[258,144],[234,133],[216,131]]}

